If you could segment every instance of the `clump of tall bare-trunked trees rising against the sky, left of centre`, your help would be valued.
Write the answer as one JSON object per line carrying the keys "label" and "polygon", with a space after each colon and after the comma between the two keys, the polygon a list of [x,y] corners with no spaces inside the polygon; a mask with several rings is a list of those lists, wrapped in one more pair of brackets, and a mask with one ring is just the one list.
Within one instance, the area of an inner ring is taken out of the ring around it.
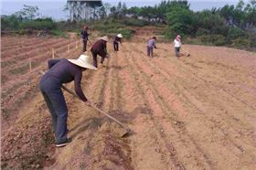
{"label": "clump of tall bare-trunked trees rising against the sky, left of centre", "polygon": [[91,0],[68,0],[70,21],[88,20],[92,17],[93,8],[89,6]]}

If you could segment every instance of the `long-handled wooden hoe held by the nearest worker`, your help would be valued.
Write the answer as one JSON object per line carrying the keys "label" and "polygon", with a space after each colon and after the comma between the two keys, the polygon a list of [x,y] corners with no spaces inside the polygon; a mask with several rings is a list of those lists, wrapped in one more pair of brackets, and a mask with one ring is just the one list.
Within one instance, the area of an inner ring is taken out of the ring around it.
{"label": "long-handled wooden hoe held by the nearest worker", "polygon": [[[40,71],[40,73],[41,73],[41,74],[44,74],[43,71]],[[69,90],[69,88],[67,88],[66,86],[63,86],[63,85],[62,85],[61,88],[62,88],[63,90],[66,90],[67,92],[69,92],[70,94],[72,94],[73,96],[75,96],[77,99],[80,100],[80,97],[79,97],[76,93],[74,93],[72,90]],[[81,101],[81,100],[80,100],[80,101]],[[116,118],[112,117],[112,116],[111,116],[110,114],[108,114],[107,112],[104,112],[104,111],[102,111],[101,109],[97,108],[97,107],[94,106],[93,104],[91,104],[91,107],[92,107],[93,109],[95,109],[96,111],[101,112],[102,114],[104,114],[105,116],[107,116],[108,118],[110,118],[112,121],[117,122],[119,125],[121,125],[121,126],[123,127],[123,132],[120,133],[120,136],[121,136],[121,137],[124,137],[124,136],[128,135],[128,133],[131,133],[132,130],[131,130],[126,124],[123,124],[123,122],[118,121]]]}

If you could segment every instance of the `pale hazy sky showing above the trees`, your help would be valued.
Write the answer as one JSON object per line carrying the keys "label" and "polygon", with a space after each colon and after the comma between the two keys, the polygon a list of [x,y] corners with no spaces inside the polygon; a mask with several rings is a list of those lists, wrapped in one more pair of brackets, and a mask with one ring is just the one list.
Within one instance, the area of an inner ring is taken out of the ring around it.
{"label": "pale hazy sky showing above the trees", "polygon": [[[162,0],[102,0],[104,3],[117,5],[118,2],[125,3],[127,7],[157,5]],[[221,7],[224,5],[236,5],[239,0],[188,0],[190,9],[200,11],[211,9],[212,7]],[[248,0],[245,0],[248,2]],[[1,15],[11,15],[23,8],[23,5],[37,5],[40,16],[50,16],[56,20],[65,20],[69,18],[69,12],[63,11],[67,0],[0,0]]]}

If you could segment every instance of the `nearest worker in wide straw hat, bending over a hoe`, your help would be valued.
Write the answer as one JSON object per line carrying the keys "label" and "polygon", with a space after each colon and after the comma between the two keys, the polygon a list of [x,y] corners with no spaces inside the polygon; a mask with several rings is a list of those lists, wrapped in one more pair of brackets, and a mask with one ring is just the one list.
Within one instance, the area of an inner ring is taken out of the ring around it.
{"label": "nearest worker in wide straw hat, bending over a hoe", "polygon": [[91,65],[90,57],[87,55],[80,55],[78,59],[49,59],[48,71],[39,81],[39,88],[51,114],[57,147],[65,146],[72,141],[67,137],[68,108],[61,86],[74,80],[77,95],[90,106],[91,102],[87,100],[80,87],[82,71],[86,69],[97,69]]}

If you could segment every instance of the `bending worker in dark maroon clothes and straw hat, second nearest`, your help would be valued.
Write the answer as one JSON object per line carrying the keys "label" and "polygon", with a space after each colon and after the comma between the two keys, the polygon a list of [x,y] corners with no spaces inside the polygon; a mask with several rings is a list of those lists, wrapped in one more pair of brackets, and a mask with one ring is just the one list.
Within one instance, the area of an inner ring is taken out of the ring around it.
{"label": "bending worker in dark maroon clothes and straw hat, second nearest", "polygon": [[104,58],[108,58],[107,53],[107,42],[109,38],[107,36],[101,37],[100,40],[96,41],[91,47],[91,54],[93,58],[93,66],[98,68],[97,55],[101,56],[101,64],[104,62]]}

